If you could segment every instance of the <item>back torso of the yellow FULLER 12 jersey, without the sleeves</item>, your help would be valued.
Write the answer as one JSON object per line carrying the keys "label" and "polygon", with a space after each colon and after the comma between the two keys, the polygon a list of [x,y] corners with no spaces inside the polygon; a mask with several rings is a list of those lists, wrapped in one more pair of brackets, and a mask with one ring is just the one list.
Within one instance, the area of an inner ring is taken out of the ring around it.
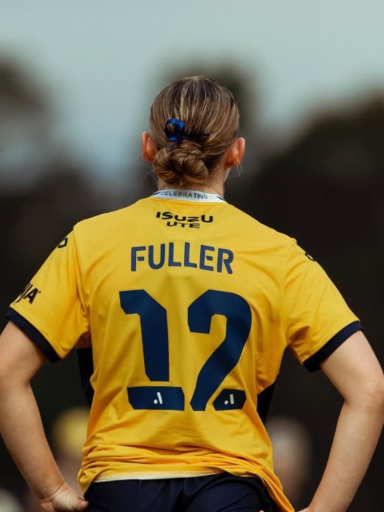
{"label": "back torso of the yellow FULLER 12 jersey, without the sleeves", "polygon": [[80,223],[75,238],[94,362],[82,479],[101,449],[115,466],[98,479],[148,464],[162,477],[271,474],[257,396],[284,350],[290,239],[185,190]]}

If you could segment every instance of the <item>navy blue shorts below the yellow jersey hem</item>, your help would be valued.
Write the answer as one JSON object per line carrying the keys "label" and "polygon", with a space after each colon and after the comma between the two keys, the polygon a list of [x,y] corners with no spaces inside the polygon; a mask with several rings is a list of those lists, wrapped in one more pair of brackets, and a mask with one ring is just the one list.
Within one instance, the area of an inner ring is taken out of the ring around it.
{"label": "navy blue shorts below the yellow jersey hem", "polygon": [[92,483],[87,512],[278,512],[259,478],[219,473]]}

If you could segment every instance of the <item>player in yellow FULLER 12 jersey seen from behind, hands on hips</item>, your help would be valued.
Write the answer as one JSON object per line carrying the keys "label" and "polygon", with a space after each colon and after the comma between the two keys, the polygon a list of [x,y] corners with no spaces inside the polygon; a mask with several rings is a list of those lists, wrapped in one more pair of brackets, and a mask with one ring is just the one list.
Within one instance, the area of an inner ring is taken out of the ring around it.
{"label": "player in yellow FULLER 12 jersey seen from behind, hands on hips", "polygon": [[[310,512],[344,512],[384,416],[356,316],[296,242],[223,198],[245,141],[232,94],[165,87],[142,136],[158,191],[78,223],[12,303],[0,429],[48,512],[292,512],[264,428],[288,346],[344,397]],[[78,348],[91,402],[79,482],[51,456],[30,379]]]}

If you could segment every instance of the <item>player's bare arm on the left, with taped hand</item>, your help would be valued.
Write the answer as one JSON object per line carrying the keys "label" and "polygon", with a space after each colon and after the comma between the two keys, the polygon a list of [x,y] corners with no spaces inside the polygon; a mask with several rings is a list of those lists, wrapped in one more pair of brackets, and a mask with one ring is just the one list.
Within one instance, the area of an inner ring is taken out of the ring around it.
{"label": "player's bare arm on the left, with taped hand", "polygon": [[30,380],[45,356],[16,326],[0,335],[0,432],[20,472],[47,512],[85,510],[63,480],[48,446]]}

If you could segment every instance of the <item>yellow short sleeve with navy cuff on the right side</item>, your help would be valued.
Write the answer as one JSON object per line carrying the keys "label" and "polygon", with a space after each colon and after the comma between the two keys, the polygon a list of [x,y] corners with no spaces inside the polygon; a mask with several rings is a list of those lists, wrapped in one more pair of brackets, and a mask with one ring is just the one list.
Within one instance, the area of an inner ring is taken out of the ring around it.
{"label": "yellow short sleeve with navy cuff on the right side", "polygon": [[309,371],[361,330],[358,318],[322,267],[296,242],[290,249],[283,296],[288,346]]}

